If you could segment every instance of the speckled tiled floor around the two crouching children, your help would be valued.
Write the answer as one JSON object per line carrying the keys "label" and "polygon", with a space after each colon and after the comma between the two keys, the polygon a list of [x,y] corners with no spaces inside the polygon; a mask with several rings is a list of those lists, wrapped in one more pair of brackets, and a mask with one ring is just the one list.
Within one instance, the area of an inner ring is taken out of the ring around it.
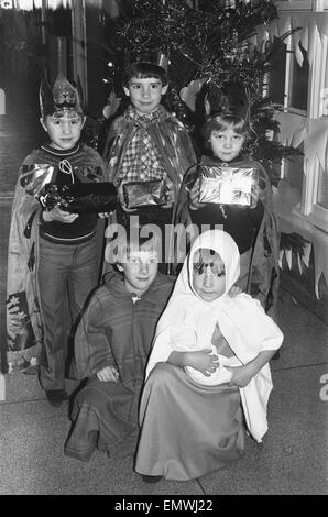
{"label": "speckled tiled floor around the two crouching children", "polygon": [[149,485],[131,459],[98,451],[88,463],[68,459],[68,407],[51,407],[35,377],[12,374],[0,405],[0,494],[328,494],[327,327],[283,288],[278,307],[285,342],[272,362],[269,432],[261,444],[248,438],[238,463],[188,483]]}

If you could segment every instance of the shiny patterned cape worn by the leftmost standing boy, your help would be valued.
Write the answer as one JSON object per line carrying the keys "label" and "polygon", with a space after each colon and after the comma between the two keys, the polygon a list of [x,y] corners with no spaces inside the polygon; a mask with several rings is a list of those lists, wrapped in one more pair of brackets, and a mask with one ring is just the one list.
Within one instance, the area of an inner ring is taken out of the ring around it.
{"label": "shiny patterned cape worn by the leftmost standing boy", "polygon": [[[7,345],[9,372],[23,369],[40,354],[42,321],[39,309],[36,268],[39,257],[39,220],[41,205],[35,198],[43,186],[54,180],[62,157],[43,148],[26,156],[19,170],[11,211],[7,277]],[[103,182],[101,156],[80,144],[69,156],[80,182]]]}

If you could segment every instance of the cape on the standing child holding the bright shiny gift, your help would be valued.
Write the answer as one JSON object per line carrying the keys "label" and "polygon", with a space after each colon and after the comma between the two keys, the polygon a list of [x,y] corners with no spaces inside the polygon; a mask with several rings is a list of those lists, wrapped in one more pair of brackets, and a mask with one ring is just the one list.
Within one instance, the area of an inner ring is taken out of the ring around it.
{"label": "cape on the standing child holding the bright shiny gift", "polygon": [[[204,156],[200,163],[218,165],[218,160]],[[280,237],[272,205],[271,183],[263,165],[259,162],[242,158],[233,162],[233,167],[254,167],[259,169],[260,199],[264,207],[264,215],[253,246],[247,293],[259,299],[265,311],[274,318],[280,278]],[[197,176],[197,165],[194,165],[184,177],[177,201],[175,223],[182,223],[185,227],[192,224],[188,189],[194,185]],[[209,221],[204,221],[204,223],[206,222]],[[178,255],[177,252],[176,255]]]}

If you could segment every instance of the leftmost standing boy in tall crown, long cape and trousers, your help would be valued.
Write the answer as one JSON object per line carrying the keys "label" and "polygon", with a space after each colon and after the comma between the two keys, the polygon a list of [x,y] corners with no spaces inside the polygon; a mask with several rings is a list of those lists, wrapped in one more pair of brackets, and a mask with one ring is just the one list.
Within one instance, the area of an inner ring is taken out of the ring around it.
{"label": "leftmost standing boy in tall crown, long cape and trousers", "polygon": [[[50,141],[24,160],[15,187],[9,238],[7,323],[9,367],[39,370],[48,402],[65,392],[67,341],[87,296],[98,284],[98,215],[46,207],[45,188],[106,178],[97,151],[79,142],[80,96],[62,74],[40,88],[41,123]],[[29,364],[30,363],[30,364]],[[32,371],[32,372],[31,372]],[[35,373],[35,372],[33,372]]]}

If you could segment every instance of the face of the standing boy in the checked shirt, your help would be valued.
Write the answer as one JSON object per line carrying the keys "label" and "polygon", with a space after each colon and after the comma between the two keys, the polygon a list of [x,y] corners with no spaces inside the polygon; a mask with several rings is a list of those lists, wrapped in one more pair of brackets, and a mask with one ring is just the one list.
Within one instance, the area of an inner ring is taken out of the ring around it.
{"label": "face of the standing boy in the checked shirt", "polygon": [[161,102],[162,95],[167,91],[167,85],[163,86],[162,81],[155,77],[139,79],[133,77],[124,92],[139,114],[146,114],[154,111]]}

